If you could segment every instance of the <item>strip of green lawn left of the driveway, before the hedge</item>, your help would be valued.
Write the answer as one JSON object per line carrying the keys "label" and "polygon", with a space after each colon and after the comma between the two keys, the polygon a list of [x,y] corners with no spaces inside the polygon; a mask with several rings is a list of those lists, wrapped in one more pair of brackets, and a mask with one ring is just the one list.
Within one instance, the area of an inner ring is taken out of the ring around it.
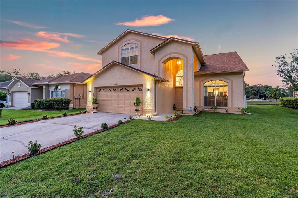
{"label": "strip of green lawn left of the driveway, before the hedge", "polygon": [[85,109],[69,109],[62,111],[39,111],[39,110],[21,110],[21,109],[3,109],[0,124],[8,124],[10,118],[15,119],[18,122],[42,119],[44,115],[49,117],[62,116],[63,112],[67,112],[68,115],[78,113],[79,110],[85,111]]}

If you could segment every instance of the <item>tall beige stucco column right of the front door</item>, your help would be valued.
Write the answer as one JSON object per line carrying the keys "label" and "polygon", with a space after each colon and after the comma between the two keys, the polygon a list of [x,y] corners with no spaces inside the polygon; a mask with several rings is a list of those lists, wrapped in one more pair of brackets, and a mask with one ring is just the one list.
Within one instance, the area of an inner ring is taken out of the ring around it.
{"label": "tall beige stucco column right of the front door", "polygon": [[[192,56],[189,56],[192,57]],[[193,114],[193,110],[189,111],[188,107],[194,106],[193,103],[193,58],[188,58],[188,61],[183,62],[183,113]]]}

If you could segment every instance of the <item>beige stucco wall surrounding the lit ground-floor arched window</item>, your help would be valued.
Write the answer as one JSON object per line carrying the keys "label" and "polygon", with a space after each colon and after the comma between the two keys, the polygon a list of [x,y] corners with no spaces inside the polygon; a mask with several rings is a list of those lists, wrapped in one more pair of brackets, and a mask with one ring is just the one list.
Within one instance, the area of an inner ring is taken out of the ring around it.
{"label": "beige stucco wall surrounding the lit ground-floor arched window", "polygon": [[[204,83],[211,80],[222,80],[228,83],[228,107],[218,107],[216,112],[240,113],[238,108],[244,107],[244,77],[243,72],[205,74],[194,76],[194,105],[202,110],[204,107]],[[208,111],[212,111],[210,107]]]}

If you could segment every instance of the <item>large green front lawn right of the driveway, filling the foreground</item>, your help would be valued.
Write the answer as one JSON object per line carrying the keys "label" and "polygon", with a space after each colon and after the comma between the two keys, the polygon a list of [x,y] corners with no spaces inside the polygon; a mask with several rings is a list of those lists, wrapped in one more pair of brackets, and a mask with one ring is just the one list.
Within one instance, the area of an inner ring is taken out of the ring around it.
{"label": "large green front lawn right of the driveway, filling the foreground", "polygon": [[1,196],[298,197],[298,111],[248,109],[133,120],[1,169]]}

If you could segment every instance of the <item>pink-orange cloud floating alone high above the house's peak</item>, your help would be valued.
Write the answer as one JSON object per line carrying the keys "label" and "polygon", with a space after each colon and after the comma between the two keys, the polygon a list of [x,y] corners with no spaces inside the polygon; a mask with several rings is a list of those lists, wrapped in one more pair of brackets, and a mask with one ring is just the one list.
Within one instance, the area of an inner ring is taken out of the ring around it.
{"label": "pink-orange cloud floating alone high above the house's peak", "polygon": [[144,16],[141,19],[136,18],[134,21],[116,23],[116,25],[133,26],[133,27],[144,27],[144,26],[160,26],[165,23],[170,23],[174,19],[165,17],[164,15],[157,16]]}

